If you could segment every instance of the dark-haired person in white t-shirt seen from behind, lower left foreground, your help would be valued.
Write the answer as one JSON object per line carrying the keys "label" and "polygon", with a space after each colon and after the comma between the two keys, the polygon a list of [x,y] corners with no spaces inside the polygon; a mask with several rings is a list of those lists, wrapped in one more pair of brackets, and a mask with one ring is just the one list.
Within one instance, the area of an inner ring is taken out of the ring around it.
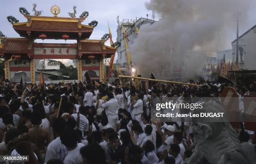
{"label": "dark-haired person in white t-shirt seen from behind, lower left foreground", "polygon": [[44,163],[47,163],[50,159],[60,159],[61,161],[63,161],[63,159],[66,157],[68,153],[67,147],[65,147],[65,145],[61,143],[61,140],[59,137],[65,128],[66,128],[66,121],[63,118],[59,117],[54,120],[53,132],[56,136],[56,139],[54,139],[48,145]]}

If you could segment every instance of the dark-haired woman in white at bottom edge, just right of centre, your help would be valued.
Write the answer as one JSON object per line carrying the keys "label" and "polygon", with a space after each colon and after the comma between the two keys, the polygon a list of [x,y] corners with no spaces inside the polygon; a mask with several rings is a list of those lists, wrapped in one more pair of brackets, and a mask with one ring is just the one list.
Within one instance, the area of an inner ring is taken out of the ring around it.
{"label": "dark-haired woman in white at bottom edge, just right of centre", "polygon": [[154,152],[155,146],[150,140],[146,141],[143,145],[143,149],[146,157],[148,158],[149,164],[159,164],[159,159]]}

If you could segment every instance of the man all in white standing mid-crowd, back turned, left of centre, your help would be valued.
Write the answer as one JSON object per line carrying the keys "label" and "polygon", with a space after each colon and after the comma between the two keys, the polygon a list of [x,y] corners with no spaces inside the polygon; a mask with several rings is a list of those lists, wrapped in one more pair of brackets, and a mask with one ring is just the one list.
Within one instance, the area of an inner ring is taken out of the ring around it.
{"label": "man all in white standing mid-crowd, back turned, left of centre", "polygon": [[102,104],[108,117],[109,124],[115,129],[118,122],[118,100],[114,98],[113,93],[108,92],[108,101]]}

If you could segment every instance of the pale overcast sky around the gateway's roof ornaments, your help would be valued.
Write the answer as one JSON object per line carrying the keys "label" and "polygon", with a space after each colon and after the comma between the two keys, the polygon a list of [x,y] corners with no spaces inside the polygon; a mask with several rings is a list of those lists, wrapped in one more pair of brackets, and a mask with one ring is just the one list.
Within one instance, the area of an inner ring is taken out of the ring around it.
{"label": "pale overcast sky around the gateway's roof ornaments", "polygon": [[[26,18],[19,12],[19,7],[25,7],[31,15],[33,3],[37,4],[36,10],[43,10],[43,16],[53,16],[50,11],[51,6],[60,7],[59,17],[69,17],[67,12],[73,12],[73,6],[77,6],[77,17],[83,12],[88,11],[89,17],[82,22],[88,25],[92,20],[97,20],[99,24],[92,32],[90,39],[100,39],[105,33],[108,33],[108,21],[113,35],[113,41],[116,41],[117,16],[119,20],[136,19],[136,17],[151,17],[152,12],[146,10],[144,3],[146,0],[0,0],[0,30],[7,37],[19,37],[13,30],[12,25],[7,21],[8,15],[13,15],[20,22],[26,22]],[[45,42],[64,42],[64,40],[54,41],[46,40]],[[67,41],[68,42],[68,41]],[[74,41],[71,41],[74,42]],[[106,43],[109,45],[109,41]]]}

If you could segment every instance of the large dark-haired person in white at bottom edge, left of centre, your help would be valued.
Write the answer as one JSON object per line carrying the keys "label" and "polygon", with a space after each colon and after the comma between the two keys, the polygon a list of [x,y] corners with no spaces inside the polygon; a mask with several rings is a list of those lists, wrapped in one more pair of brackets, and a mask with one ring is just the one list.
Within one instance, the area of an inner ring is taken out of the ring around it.
{"label": "large dark-haired person in white at bottom edge, left of centre", "polygon": [[82,156],[80,154],[81,147],[84,144],[77,143],[77,132],[74,129],[65,129],[60,136],[61,143],[67,147],[68,153],[63,160],[64,164],[82,164]]}

